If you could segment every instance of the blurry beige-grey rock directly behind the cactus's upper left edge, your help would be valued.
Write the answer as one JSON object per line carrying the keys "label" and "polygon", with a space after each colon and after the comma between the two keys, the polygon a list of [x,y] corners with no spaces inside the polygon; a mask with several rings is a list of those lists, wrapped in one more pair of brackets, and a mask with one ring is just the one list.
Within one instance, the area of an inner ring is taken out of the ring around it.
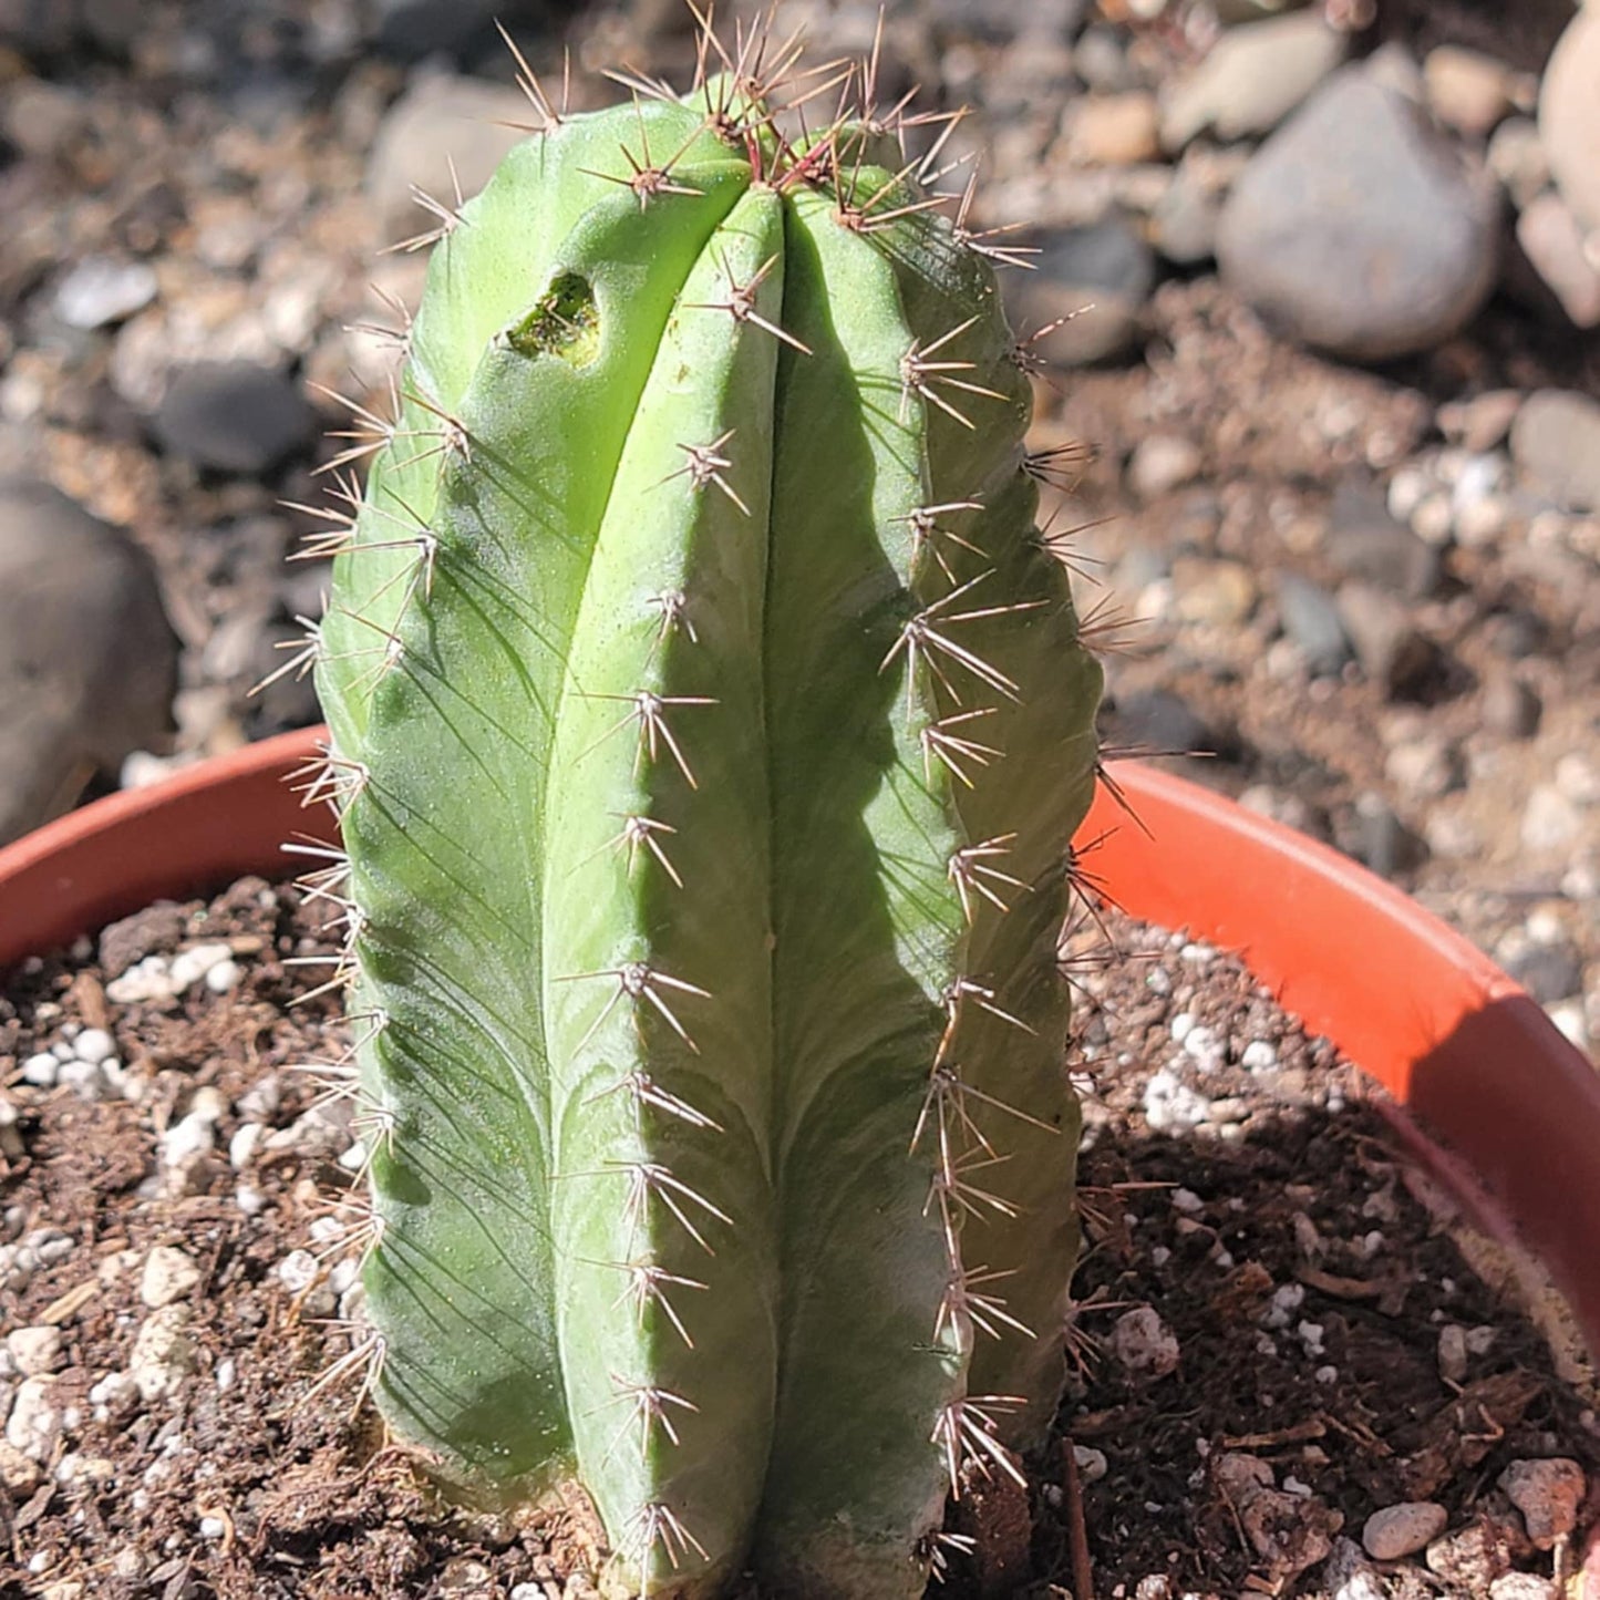
{"label": "blurry beige-grey rock directly behind the cactus's upper left edge", "polygon": [[534,120],[520,90],[450,74],[418,78],[389,107],[366,162],[366,194],[384,238],[410,238],[437,224],[416,203],[416,190],[454,205],[459,181],[462,198],[470,200],[525,138],[504,123]]}

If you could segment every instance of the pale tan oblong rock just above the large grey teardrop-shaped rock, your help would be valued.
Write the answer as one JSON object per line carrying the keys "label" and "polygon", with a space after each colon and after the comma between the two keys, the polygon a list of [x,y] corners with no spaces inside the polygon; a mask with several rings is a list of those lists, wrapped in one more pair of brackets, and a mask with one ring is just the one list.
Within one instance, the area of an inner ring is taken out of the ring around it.
{"label": "pale tan oblong rock just above the large grey teardrop-shaped rock", "polygon": [[1346,38],[1315,10],[1227,29],[1162,93],[1162,144],[1181,150],[1208,128],[1219,139],[1270,133],[1344,59]]}

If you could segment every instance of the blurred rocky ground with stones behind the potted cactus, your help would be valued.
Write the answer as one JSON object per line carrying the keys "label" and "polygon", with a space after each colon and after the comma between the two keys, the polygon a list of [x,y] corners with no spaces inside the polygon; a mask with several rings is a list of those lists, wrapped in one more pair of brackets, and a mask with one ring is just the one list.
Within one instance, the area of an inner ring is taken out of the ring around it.
{"label": "blurred rocky ground with stones behind the potted cactus", "polygon": [[[0,842],[317,720],[246,691],[322,610],[333,395],[386,405],[426,253],[382,251],[531,120],[496,18],[573,109],[693,69],[682,0],[0,0]],[[877,22],[776,6],[819,58]],[[1035,251],[1109,744],[1205,752],[1592,1050],[1600,6],[896,0],[912,85]]]}

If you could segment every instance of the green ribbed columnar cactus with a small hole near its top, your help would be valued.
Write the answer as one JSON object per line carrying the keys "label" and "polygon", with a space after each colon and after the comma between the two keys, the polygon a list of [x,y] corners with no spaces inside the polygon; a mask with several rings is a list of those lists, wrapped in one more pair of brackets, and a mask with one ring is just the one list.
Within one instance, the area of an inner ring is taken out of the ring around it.
{"label": "green ribbed columnar cactus with a small hole near its top", "polygon": [[392,1429],[576,1478],[638,1592],[912,1594],[1059,1395],[1099,669],[1013,251],[899,112],[779,134],[763,48],[587,115],[525,74],[539,128],[437,208],[312,541],[307,789]]}

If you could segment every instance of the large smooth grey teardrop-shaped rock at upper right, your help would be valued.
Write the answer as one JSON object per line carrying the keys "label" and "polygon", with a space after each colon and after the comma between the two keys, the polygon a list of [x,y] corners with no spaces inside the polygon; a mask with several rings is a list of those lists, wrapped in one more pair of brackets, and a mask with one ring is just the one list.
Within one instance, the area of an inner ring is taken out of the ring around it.
{"label": "large smooth grey teardrop-shaped rock at upper right", "polygon": [[1245,168],[1218,262],[1290,336],[1387,360],[1446,339],[1488,298],[1499,208],[1474,157],[1346,67]]}

